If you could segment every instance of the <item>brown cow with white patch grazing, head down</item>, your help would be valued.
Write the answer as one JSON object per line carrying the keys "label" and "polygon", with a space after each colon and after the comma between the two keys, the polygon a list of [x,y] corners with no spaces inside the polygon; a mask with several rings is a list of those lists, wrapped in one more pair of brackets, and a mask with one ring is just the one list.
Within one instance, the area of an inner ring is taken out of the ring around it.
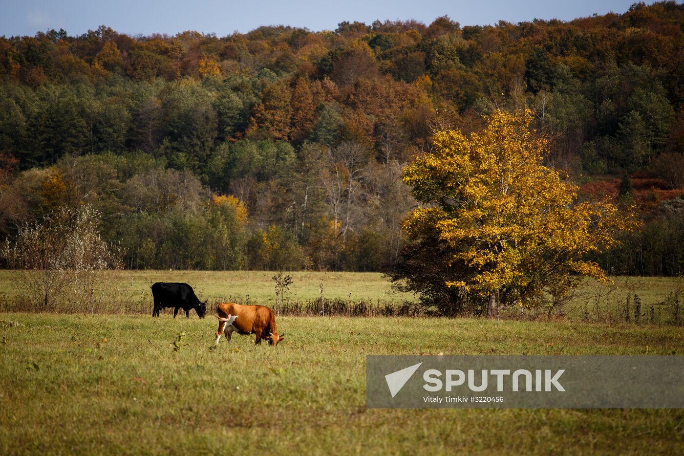
{"label": "brown cow with white patch grazing, head down", "polygon": [[221,303],[216,309],[218,315],[218,331],[216,331],[216,344],[222,334],[226,335],[228,343],[231,342],[231,333],[255,334],[257,340],[254,344],[261,344],[261,339],[268,340],[269,345],[276,346],[285,339],[285,334],[278,334],[276,317],[273,311],[263,305],[242,305],[236,303]]}

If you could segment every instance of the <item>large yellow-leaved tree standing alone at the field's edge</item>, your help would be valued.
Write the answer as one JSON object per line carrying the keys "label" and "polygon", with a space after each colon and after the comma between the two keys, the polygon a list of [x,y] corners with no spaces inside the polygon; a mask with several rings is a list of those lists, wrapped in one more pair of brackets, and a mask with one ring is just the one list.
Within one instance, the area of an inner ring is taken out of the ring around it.
{"label": "large yellow-leaved tree standing alone at the field's edge", "polygon": [[529,110],[495,111],[469,137],[438,131],[433,150],[404,168],[425,205],[404,222],[408,238],[443,244],[456,273],[441,285],[480,296],[490,316],[512,305],[553,305],[582,276],[606,281],[587,255],[635,225],[631,211],[609,201],[577,201],[577,186],[542,164],[548,141],[532,120]]}

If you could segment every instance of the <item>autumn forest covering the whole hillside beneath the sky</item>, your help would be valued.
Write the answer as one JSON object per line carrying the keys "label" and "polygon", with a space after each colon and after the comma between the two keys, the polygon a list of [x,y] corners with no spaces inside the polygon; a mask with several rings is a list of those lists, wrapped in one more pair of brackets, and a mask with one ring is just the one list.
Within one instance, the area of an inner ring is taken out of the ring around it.
{"label": "autumn forest covering the whole hillside beneath the sky", "polygon": [[[552,139],[550,166],[587,198],[642,208],[642,228],[601,264],[684,273],[675,1],[484,27],[443,16],[224,37],[50,30],[0,37],[0,80],[10,240],[88,203],[127,268],[382,270],[416,205],[402,168],[432,132],[529,107]],[[630,176],[650,179],[642,197]]]}

